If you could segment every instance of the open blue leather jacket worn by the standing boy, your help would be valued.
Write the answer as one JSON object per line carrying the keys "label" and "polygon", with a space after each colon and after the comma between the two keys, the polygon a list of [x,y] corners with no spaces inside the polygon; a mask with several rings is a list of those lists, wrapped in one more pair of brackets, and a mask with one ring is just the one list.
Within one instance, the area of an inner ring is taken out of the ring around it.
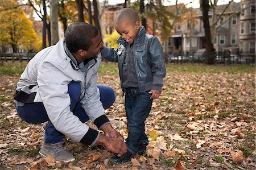
{"label": "open blue leather jacket worn by the standing boy", "polygon": [[[122,66],[125,59],[126,42],[118,38],[118,48],[103,47],[101,55],[113,62],[118,62],[119,76],[122,86]],[[163,78],[166,76],[163,47],[158,38],[146,34],[141,26],[139,35],[134,41],[134,63],[138,77],[139,90],[146,92],[151,89],[162,91]],[[124,90],[123,90],[124,92]]]}

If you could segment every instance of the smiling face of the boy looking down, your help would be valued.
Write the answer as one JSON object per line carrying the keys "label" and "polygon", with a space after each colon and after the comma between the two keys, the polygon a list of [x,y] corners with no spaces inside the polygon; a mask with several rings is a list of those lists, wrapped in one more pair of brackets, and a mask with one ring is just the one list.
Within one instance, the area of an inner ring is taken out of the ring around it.
{"label": "smiling face of the boy looking down", "polygon": [[131,23],[129,22],[129,19],[124,19],[123,22],[115,23],[115,30],[117,30],[121,38],[129,44],[133,44],[138,35],[139,27],[140,23],[138,21],[136,23]]}

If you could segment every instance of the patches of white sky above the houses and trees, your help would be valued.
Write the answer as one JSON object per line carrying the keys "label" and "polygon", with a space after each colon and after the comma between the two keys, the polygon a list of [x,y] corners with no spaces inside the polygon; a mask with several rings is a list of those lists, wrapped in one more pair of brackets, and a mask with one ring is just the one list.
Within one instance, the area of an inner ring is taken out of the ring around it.
{"label": "patches of white sky above the houses and trees", "polygon": [[[100,0],[100,2],[102,2],[103,0]],[[230,0],[219,0],[217,5],[223,5],[223,4],[227,4],[229,3]],[[234,2],[240,2],[241,0],[234,0]],[[124,0],[109,0],[109,4],[110,5],[115,5],[117,3],[124,3]],[[133,0],[131,0],[131,2],[133,2]],[[192,2],[192,3],[189,3]],[[187,4],[187,7],[193,7],[193,8],[199,8],[200,4],[199,4],[199,0],[179,0],[178,3],[184,3]],[[165,5],[175,5],[175,0],[164,0],[164,4]]]}

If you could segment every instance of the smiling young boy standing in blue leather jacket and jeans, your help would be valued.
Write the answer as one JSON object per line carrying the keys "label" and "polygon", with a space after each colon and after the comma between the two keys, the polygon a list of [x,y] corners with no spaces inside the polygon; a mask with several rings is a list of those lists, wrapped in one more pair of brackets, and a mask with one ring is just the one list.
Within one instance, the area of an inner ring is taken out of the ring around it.
{"label": "smiling young boy standing in blue leather jacket and jeans", "polygon": [[150,113],[152,99],[158,98],[162,92],[166,68],[162,45],[158,38],[146,34],[133,9],[120,10],[114,27],[120,35],[117,51],[103,47],[101,55],[109,61],[118,62],[121,87],[125,93],[129,130],[127,152],[110,158],[113,163],[122,164],[130,161],[137,152],[143,155],[146,151],[148,139],[144,121]]}

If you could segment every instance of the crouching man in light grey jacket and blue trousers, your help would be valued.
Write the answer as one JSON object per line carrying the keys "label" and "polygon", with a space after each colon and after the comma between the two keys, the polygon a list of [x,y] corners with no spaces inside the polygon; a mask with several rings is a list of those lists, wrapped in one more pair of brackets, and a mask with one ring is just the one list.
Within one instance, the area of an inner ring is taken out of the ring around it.
{"label": "crouching man in light grey jacket and blue trousers", "polygon": [[[64,135],[90,146],[100,144],[115,154],[127,151],[104,112],[114,102],[113,89],[97,85],[101,48],[96,27],[73,23],[65,39],[38,52],[20,76],[14,97],[19,116],[28,123],[48,121],[40,155],[65,163],[75,160],[63,147]],[[89,119],[105,135],[85,125]]]}

